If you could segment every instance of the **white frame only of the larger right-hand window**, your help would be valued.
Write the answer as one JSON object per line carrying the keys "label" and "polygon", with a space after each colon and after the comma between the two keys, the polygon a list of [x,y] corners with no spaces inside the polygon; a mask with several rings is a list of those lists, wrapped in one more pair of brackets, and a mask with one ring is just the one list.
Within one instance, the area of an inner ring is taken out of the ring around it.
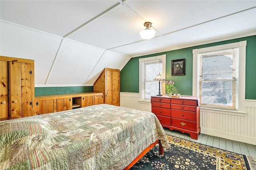
{"label": "white frame only of the larger right-hand window", "polygon": [[209,51],[217,51],[222,49],[230,49],[239,47],[238,57],[238,111],[212,109],[206,107],[200,107],[202,111],[209,111],[215,113],[225,113],[236,115],[237,113],[245,113],[245,67],[246,67],[246,41],[240,41],[237,43],[230,43],[225,45],[217,45],[213,47],[206,47],[201,49],[193,49],[193,82],[192,82],[192,95],[199,97],[199,72],[200,72],[200,58],[198,53],[204,53]]}

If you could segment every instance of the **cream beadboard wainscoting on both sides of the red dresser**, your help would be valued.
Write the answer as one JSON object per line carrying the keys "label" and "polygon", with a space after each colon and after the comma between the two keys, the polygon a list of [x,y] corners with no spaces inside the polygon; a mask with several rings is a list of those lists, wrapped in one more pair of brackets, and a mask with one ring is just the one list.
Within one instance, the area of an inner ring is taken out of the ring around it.
{"label": "cream beadboard wainscoting on both sides of the red dresser", "polygon": [[[139,93],[120,92],[120,106],[151,111],[150,102],[139,100]],[[256,100],[245,100],[245,113],[200,110],[201,133],[256,145]]]}

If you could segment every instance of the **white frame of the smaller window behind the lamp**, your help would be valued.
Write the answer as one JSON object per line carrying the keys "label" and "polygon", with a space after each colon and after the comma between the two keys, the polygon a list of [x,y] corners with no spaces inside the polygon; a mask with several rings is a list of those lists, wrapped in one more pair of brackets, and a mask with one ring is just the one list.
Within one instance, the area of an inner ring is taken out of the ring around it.
{"label": "white frame of the smaller window behind the lamp", "polygon": [[[140,101],[143,101],[143,102],[150,102],[150,100],[143,100],[143,89],[142,88],[142,85],[144,84],[143,82],[143,73],[144,73],[144,70],[143,70],[143,66],[142,64],[145,62],[145,61],[153,61],[153,60],[159,60],[161,59],[162,60],[162,76],[165,78],[165,73],[166,73],[166,55],[158,55],[158,56],[154,56],[154,57],[146,57],[146,58],[142,58],[142,59],[139,59],[139,80],[140,80],[140,83],[139,83],[139,86],[140,86],[140,90],[139,90],[139,93],[140,93]],[[157,75],[156,75],[157,76]],[[161,94],[165,94],[165,87],[164,87],[164,83],[161,83]],[[158,94],[158,89],[157,90],[157,94]]]}

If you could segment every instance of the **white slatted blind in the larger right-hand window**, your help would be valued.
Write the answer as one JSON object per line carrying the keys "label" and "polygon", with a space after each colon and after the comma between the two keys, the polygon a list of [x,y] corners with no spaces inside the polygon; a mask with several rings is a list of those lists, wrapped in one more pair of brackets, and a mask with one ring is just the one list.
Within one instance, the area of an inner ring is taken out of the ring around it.
{"label": "white slatted blind in the larger right-hand window", "polygon": [[238,48],[198,53],[200,105],[237,110]]}

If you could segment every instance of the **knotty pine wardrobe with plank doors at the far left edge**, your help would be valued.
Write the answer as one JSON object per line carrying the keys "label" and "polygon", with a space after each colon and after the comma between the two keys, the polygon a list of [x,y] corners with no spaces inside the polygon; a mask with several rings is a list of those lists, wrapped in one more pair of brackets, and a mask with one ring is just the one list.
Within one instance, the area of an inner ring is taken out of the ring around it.
{"label": "knotty pine wardrobe with plank doors at the far left edge", "polygon": [[0,119],[34,115],[34,60],[0,56]]}

